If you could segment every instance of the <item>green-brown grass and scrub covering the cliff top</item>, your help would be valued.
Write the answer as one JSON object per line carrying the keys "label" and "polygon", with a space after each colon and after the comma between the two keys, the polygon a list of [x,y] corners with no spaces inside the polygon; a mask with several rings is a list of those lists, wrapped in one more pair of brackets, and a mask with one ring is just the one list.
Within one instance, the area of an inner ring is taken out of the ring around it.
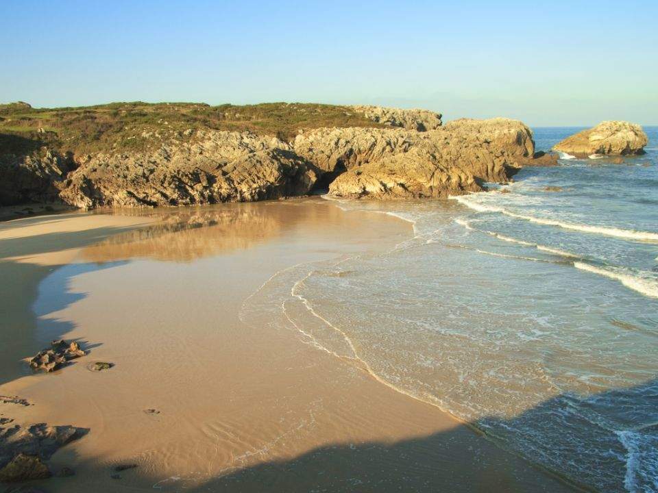
{"label": "green-brown grass and scrub covering the cliff top", "polygon": [[292,140],[302,129],[380,127],[362,114],[337,105],[263,103],[210,106],[204,103],[110,103],[80,108],[0,105],[0,155],[48,147],[85,155],[99,151],[156,149],[186,130],[252,131]]}

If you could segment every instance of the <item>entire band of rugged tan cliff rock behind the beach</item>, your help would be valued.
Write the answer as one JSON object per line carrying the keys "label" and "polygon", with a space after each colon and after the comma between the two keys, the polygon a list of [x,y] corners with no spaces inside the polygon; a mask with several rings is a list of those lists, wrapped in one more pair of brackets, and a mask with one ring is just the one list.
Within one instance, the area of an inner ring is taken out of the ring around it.
{"label": "entire band of rugged tan cliff rock behind the beach", "polygon": [[484,181],[507,181],[533,161],[531,131],[519,121],[441,126],[432,112],[366,108],[397,127],[302,130],[291,142],[205,129],[171,132],[158,147],[5,155],[0,201],[149,207],[277,199],[314,188],[341,197],[446,197],[482,190]]}

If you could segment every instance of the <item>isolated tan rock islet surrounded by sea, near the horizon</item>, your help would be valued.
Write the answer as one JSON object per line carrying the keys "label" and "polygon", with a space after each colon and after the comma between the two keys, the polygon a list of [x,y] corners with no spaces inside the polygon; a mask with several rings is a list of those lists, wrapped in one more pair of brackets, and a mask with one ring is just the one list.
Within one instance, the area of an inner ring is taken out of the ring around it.
{"label": "isolated tan rock islet surrounded by sea, near the horizon", "polygon": [[583,130],[553,147],[560,151],[586,157],[598,155],[633,155],[644,153],[648,138],[642,127],[625,121],[605,121]]}

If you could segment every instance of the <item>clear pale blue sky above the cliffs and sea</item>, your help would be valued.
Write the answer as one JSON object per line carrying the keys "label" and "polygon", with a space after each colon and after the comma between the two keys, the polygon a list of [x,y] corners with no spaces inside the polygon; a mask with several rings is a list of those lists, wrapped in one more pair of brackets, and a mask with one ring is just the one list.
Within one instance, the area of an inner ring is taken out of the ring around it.
{"label": "clear pale blue sky above the cliffs and sea", "polygon": [[658,124],[658,1],[0,0],[0,101],[317,101]]}

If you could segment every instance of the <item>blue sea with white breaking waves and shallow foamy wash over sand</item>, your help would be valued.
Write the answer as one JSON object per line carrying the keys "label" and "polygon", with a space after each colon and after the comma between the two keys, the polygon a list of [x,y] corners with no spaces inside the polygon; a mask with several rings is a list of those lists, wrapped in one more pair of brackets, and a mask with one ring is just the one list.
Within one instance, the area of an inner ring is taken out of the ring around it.
{"label": "blue sea with white breaking waves and shallow foamy wash over sand", "polygon": [[[537,149],[577,130],[535,129]],[[337,201],[415,236],[289,268],[243,317],[276,309],[318,349],[571,481],[656,492],[658,128],[646,131],[646,154],[622,164],[563,155],[448,201]]]}

